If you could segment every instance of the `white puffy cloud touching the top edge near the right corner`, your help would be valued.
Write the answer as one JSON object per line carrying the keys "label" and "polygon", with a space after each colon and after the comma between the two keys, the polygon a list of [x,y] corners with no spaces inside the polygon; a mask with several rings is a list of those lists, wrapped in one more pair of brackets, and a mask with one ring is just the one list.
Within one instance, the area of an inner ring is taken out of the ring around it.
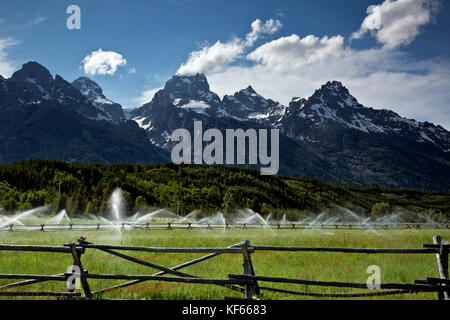
{"label": "white puffy cloud touching the top edge near the right corner", "polygon": [[371,32],[387,48],[411,43],[421,28],[433,21],[439,8],[438,0],[386,0],[370,6],[368,15],[352,39]]}

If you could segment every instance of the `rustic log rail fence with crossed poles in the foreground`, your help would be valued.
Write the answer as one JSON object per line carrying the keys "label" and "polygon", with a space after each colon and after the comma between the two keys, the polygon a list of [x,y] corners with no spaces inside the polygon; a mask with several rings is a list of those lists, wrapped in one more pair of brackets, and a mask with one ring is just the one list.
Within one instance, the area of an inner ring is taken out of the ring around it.
{"label": "rustic log rail fence with crossed poles in the foreground", "polygon": [[[418,292],[436,292],[440,300],[449,300],[450,280],[448,274],[448,255],[449,244],[442,241],[440,236],[433,237],[432,244],[423,244],[423,248],[337,248],[337,247],[283,247],[283,246],[252,246],[248,240],[231,245],[227,248],[157,248],[142,246],[122,246],[94,244],[81,237],[78,242],[65,244],[64,246],[36,246],[36,245],[0,245],[0,251],[33,251],[33,252],[58,252],[70,254],[73,257],[73,273],[61,273],[54,275],[33,275],[33,274],[0,274],[0,279],[20,280],[17,282],[5,284],[0,287],[0,296],[54,296],[70,298],[79,297],[83,299],[95,299],[102,297],[103,293],[132,286],[144,281],[163,281],[180,282],[190,284],[212,284],[226,287],[230,290],[238,291],[244,294],[245,299],[253,299],[260,296],[263,291],[279,292],[297,296],[309,297],[336,297],[336,298],[354,298],[398,295]],[[117,256],[127,261],[137,263],[159,272],[151,275],[128,275],[128,274],[92,274],[83,268],[81,261],[82,255],[86,250],[101,250],[108,254]],[[144,261],[119,251],[139,251],[153,253],[204,253],[206,255],[196,258],[177,266],[167,268],[149,261]],[[439,278],[427,277],[425,279],[415,280],[414,283],[381,283],[379,289],[373,289],[360,293],[319,293],[319,292],[301,292],[296,290],[286,290],[276,287],[261,286],[260,283],[288,283],[304,284],[310,286],[326,286],[339,288],[358,288],[368,289],[366,283],[337,282],[337,281],[317,281],[293,278],[279,278],[256,275],[252,264],[251,256],[258,251],[281,251],[281,252],[323,252],[323,253],[359,253],[359,254],[433,254],[436,255]],[[180,271],[183,268],[192,266],[220,254],[239,254],[243,257],[243,274],[229,274],[227,278],[203,278]],[[0,264],[1,268],[1,264]],[[78,273],[75,270],[79,270]],[[13,288],[31,285],[45,281],[70,281],[74,275],[79,277],[83,295],[81,292],[75,292],[69,289],[68,292],[12,292]],[[170,275],[170,276],[167,276]],[[88,279],[114,279],[128,280],[112,287],[103,288],[98,291],[90,289]],[[226,297],[225,297],[226,298]]]}

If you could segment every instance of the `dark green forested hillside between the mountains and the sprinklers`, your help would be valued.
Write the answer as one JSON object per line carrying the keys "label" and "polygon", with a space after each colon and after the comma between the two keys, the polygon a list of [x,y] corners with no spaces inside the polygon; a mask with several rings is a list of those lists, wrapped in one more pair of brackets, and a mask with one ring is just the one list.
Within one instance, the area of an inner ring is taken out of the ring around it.
{"label": "dark green forested hillside between the mountains and the sprinklers", "polygon": [[77,164],[29,160],[0,165],[0,207],[6,212],[48,205],[70,215],[108,214],[108,199],[120,188],[128,214],[155,207],[186,215],[193,210],[251,208],[275,217],[319,212],[334,205],[360,214],[402,207],[432,217],[450,215],[450,194],[357,187],[310,178],[261,176],[259,170],[224,166]]}

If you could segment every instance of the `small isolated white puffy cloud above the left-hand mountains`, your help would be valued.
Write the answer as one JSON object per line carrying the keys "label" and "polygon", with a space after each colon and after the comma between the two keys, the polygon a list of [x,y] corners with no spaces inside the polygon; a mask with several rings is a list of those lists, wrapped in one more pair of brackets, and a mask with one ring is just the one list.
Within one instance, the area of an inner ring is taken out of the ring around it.
{"label": "small isolated white puffy cloud above the left-hand mountains", "polygon": [[121,54],[102,49],[91,52],[83,59],[84,72],[90,75],[113,75],[118,67],[126,64],[127,60]]}

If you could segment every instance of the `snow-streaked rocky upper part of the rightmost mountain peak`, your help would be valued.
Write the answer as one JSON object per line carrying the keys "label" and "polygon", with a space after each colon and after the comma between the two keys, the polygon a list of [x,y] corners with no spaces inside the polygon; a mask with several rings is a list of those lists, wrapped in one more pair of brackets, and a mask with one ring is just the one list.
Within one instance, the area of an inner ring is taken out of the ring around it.
{"label": "snow-streaked rocky upper part of the rightmost mountain peak", "polygon": [[339,81],[327,82],[308,99],[293,98],[282,123],[288,130],[293,126],[303,128],[302,137],[306,140],[314,135],[306,131],[332,125],[367,134],[408,138],[442,150],[450,147],[450,133],[444,128],[403,118],[391,110],[365,107]]}

